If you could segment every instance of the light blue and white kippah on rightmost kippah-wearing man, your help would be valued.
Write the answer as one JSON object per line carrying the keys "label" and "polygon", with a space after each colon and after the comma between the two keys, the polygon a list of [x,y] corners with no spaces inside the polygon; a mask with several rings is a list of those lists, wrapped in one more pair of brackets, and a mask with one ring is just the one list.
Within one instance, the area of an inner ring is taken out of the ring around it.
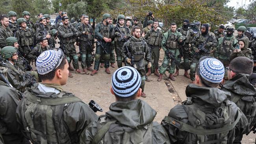
{"label": "light blue and white kippah on rightmost kippah-wearing man", "polygon": [[206,81],[220,83],[225,74],[221,61],[215,58],[206,58],[200,62],[200,76]]}

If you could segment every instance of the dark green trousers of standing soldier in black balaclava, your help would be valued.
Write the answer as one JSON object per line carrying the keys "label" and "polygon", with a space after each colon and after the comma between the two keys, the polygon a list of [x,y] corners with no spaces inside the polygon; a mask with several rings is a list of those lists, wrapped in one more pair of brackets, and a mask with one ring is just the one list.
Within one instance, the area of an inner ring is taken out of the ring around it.
{"label": "dark green trousers of standing soldier in black balaclava", "polygon": [[177,65],[180,68],[181,57],[183,57],[184,69],[185,69],[185,71],[187,71],[187,70],[189,70],[189,45],[186,44],[186,45],[182,46],[182,48],[180,48],[180,49],[182,49],[182,50],[180,50],[180,55],[178,55],[177,61],[179,61],[179,63]]}

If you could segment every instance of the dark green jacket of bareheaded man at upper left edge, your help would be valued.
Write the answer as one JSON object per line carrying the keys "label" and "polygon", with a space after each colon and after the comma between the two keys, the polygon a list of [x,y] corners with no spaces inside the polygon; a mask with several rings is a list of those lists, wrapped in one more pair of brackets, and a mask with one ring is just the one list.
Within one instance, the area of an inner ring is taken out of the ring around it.
{"label": "dark green jacket of bareheaded man at upper left edge", "polygon": [[7,37],[13,37],[13,31],[9,27],[4,28],[0,26],[0,48],[4,48],[6,46]]}

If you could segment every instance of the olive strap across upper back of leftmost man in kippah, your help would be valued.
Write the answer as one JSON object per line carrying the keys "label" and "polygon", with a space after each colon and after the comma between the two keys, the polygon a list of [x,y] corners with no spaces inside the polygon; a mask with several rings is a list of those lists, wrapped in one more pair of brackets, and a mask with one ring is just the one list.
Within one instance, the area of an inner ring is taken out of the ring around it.
{"label": "olive strap across upper back of leftmost man in kippah", "polygon": [[41,98],[33,96],[30,92],[27,91],[25,96],[30,102],[38,103],[41,105],[62,105],[66,103],[82,102],[80,98],[76,96],[62,97],[62,98]]}

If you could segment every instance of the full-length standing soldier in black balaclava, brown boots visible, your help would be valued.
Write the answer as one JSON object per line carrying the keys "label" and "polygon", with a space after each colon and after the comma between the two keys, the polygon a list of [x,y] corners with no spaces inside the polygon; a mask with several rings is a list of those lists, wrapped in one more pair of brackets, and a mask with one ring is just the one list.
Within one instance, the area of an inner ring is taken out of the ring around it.
{"label": "full-length standing soldier in black balaclava, brown boots visible", "polygon": [[[191,28],[189,28],[189,20],[185,19],[183,21],[182,28],[178,28],[178,32],[185,36],[184,44],[180,45],[180,55],[178,55],[178,67],[180,67],[181,57],[184,59],[184,75],[186,78],[190,78],[187,70],[189,70],[189,44],[194,36],[194,32]],[[173,75],[174,77],[179,75],[179,69],[176,67],[176,72]]]}

